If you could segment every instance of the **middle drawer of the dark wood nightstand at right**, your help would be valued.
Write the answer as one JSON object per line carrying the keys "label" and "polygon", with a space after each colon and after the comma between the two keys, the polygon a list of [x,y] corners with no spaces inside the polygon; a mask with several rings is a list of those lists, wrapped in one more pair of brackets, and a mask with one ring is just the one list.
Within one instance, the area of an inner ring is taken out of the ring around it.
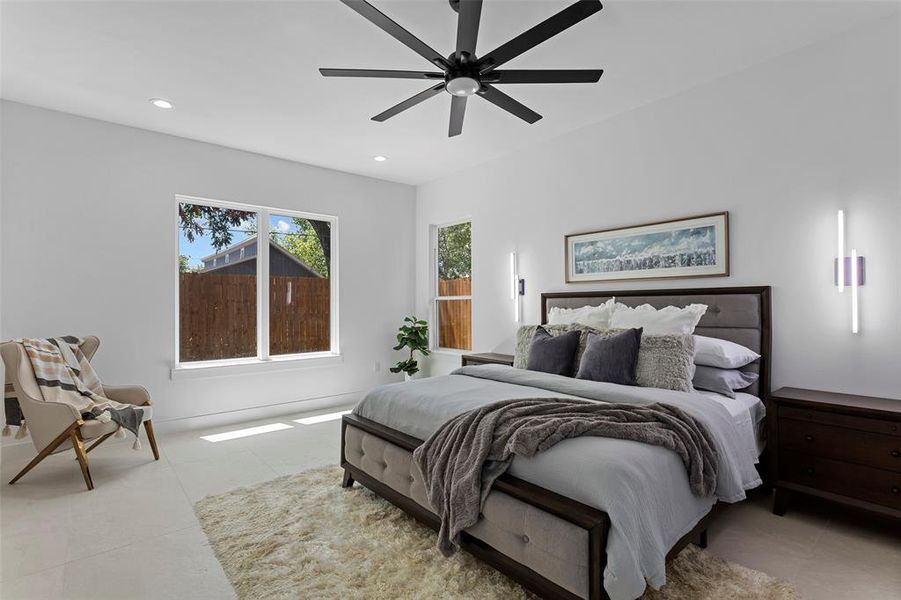
{"label": "middle drawer of the dark wood nightstand at right", "polygon": [[901,472],[899,437],[780,418],[779,447]]}

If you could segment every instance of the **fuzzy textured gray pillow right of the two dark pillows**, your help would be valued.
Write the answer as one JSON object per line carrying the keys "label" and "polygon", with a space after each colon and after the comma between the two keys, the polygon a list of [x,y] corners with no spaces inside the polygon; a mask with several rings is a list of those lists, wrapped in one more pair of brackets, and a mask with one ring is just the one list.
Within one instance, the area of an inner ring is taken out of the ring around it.
{"label": "fuzzy textured gray pillow right of the two dark pillows", "polygon": [[695,341],[690,334],[644,335],[635,378],[641,387],[692,391]]}

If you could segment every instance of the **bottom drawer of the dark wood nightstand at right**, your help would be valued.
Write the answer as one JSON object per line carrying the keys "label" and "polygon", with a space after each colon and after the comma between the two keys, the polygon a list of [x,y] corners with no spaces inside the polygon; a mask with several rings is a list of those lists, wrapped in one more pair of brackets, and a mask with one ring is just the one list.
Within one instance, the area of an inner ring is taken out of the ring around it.
{"label": "bottom drawer of the dark wood nightstand at right", "polygon": [[779,479],[901,509],[901,474],[784,450]]}

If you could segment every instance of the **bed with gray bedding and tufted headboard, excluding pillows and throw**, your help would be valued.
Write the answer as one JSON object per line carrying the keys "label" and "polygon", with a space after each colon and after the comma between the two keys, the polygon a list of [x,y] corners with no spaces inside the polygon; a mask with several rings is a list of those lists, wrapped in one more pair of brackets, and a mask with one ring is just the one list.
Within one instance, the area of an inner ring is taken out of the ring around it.
{"label": "bed with gray bedding and tufted headboard, excluding pillows and throw", "polygon": [[620,600],[640,596],[646,581],[661,585],[665,560],[688,543],[706,542],[716,501],[738,501],[761,483],[754,463],[766,435],[761,427],[769,394],[770,289],[546,293],[542,322],[552,307],[600,305],[611,296],[630,306],[706,304],[696,333],[758,352],[761,358],[746,368],[760,378],[728,403],[715,395],[583,383],[500,365],[382,386],[343,419],[343,485],[357,481],[437,528],[412,452],[444,420],[511,397],[677,404],[704,419],[720,444],[725,474],[715,497],[690,497],[684,469],[663,448],[576,438],[529,459],[517,457],[462,540],[470,553],[543,598]]}

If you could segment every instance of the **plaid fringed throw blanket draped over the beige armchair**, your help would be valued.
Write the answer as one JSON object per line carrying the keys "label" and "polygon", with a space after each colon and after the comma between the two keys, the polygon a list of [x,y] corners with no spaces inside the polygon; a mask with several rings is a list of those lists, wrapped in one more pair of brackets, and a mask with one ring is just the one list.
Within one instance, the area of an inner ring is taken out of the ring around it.
{"label": "plaid fringed throw blanket draped over the beige armchair", "polygon": [[31,361],[44,401],[68,404],[86,420],[117,423],[120,429],[116,435],[124,437],[122,429],[127,429],[135,434],[134,448],[140,449],[138,426],[144,411],[103,396],[103,385],[79,348],[81,339],[63,336],[19,341]]}

